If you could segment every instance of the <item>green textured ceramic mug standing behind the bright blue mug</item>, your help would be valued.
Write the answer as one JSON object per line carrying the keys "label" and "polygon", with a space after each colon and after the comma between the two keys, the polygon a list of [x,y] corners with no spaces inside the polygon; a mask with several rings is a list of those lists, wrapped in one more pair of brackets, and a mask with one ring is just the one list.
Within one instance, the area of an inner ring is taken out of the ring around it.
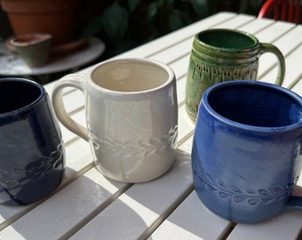
{"label": "green textured ceramic mug standing behind the bright blue mug", "polygon": [[256,80],[258,59],[272,52],[278,59],[275,84],[282,85],[285,63],[282,52],[273,44],[259,43],[248,33],[215,28],[195,35],[187,70],[186,111],[193,122],[203,92],[213,84],[229,80]]}

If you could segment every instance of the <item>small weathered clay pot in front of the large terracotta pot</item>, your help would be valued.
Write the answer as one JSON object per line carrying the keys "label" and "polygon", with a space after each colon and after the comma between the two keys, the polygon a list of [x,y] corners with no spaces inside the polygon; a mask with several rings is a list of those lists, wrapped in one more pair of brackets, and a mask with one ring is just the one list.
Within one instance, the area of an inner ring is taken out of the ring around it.
{"label": "small weathered clay pot in front of the large terracotta pot", "polygon": [[11,39],[10,44],[29,67],[39,67],[49,60],[52,35],[35,33],[17,36]]}

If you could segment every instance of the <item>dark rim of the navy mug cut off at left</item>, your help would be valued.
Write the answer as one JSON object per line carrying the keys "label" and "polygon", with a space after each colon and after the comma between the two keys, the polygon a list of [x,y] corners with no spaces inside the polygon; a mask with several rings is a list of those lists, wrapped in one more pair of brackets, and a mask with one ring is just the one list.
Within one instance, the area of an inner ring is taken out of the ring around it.
{"label": "dark rim of the navy mug cut off at left", "polygon": [[4,82],[19,82],[19,83],[26,83],[26,84],[30,84],[30,85],[35,85],[40,90],[40,94],[36,98],[36,100],[31,101],[28,105],[26,105],[22,108],[14,109],[14,110],[9,111],[9,112],[0,113],[0,117],[12,116],[12,115],[15,115],[16,112],[22,113],[24,111],[27,111],[28,108],[31,108],[32,106],[34,106],[39,100],[41,100],[44,97],[44,94],[45,94],[44,86],[42,86],[41,84],[38,84],[35,81],[30,80],[28,78],[22,78],[22,77],[3,77],[3,78],[0,78],[0,84],[4,83]]}

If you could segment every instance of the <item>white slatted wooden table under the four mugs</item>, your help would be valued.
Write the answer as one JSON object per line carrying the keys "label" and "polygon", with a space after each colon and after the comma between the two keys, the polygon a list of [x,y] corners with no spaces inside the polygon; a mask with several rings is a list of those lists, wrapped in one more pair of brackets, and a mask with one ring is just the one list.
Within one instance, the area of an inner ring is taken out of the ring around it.
{"label": "white slatted wooden table under the four mugs", "polygon": [[[116,58],[148,58],[169,64],[177,76],[179,149],[163,177],[142,184],[104,178],[92,162],[89,145],[61,126],[67,171],[60,188],[28,206],[0,206],[0,239],[301,239],[302,212],[285,212],[249,225],[223,220],[207,210],[195,194],[190,151],[195,125],[184,108],[189,53],[196,33],[206,28],[248,31],[261,42],[277,45],[285,56],[284,86],[302,95],[302,26],[220,12]],[[274,83],[276,59],[259,62],[258,78]],[[52,92],[53,84],[46,85]],[[84,124],[83,95],[65,92],[68,111]],[[302,179],[296,193],[302,196]]]}

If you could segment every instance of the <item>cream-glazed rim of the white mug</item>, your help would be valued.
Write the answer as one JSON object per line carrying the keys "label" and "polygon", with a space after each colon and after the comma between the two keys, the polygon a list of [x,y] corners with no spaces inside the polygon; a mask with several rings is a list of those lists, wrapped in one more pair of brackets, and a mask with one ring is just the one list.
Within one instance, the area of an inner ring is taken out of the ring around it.
{"label": "cream-glazed rim of the white mug", "polygon": [[[146,90],[141,90],[141,91],[129,91],[129,92],[122,92],[122,91],[115,91],[115,90],[111,90],[111,89],[107,89],[105,87],[100,86],[99,84],[96,84],[93,80],[92,80],[92,75],[93,73],[98,69],[101,68],[102,66],[105,66],[107,64],[114,64],[116,62],[137,62],[137,63],[144,63],[144,64],[152,64],[158,68],[162,68],[163,71],[165,71],[168,75],[167,79],[164,81],[163,84],[157,85],[154,88],[149,88]],[[97,88],[99,90],[101,90],[102,92],[106,92],[107,94],[115,94],[116,95],[140,95],[142,93],[147,93],[147,92],[156,92],[160,89],[163,89],[167,86],[169,86],[174,79],[176,80],[176,76],[173,72],[173,70],[167,65],[164,64],[161,61],[158,60],[151,60],[151,59],[143,59],[143,58],[127,58],[127,59],[115,59],[115,60],[105,60],[103,62],[100,62],[99,64],[97,64],[96,66],[94,66],[93,68],[91,68],[91,70],[89,71],[88,77],[86,78],[86,81],[92,85],[94,88]]]}

